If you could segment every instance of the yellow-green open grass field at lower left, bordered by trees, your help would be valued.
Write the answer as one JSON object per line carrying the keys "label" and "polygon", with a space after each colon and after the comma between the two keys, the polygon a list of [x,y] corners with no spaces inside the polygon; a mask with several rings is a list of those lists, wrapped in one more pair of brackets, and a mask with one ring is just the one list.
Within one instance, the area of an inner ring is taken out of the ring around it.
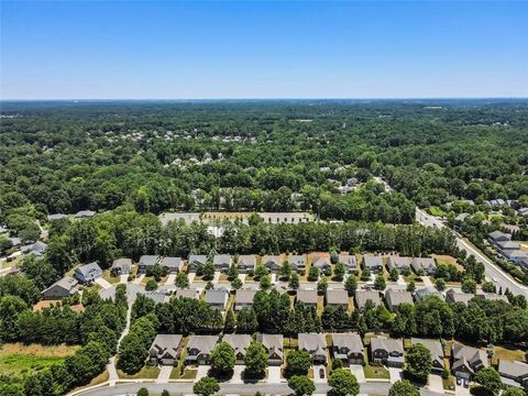
{"label": "yellow-green open grass field at lower left, bordered by trees", "polygon": [[37,372],[54,363],[63,362],[75,353],[78,346],[43,346],[22,343],[0,344],[0,373],[22,376]]}

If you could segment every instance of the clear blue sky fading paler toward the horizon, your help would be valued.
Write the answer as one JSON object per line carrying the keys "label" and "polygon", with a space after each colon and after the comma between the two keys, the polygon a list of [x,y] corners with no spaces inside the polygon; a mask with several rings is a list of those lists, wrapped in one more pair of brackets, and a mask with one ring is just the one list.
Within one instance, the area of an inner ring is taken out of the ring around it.
{"label": "clear blue sky fading paler toward the horizon", "polygon": [[528,97],[528,3],[6,2],[2,99]]}

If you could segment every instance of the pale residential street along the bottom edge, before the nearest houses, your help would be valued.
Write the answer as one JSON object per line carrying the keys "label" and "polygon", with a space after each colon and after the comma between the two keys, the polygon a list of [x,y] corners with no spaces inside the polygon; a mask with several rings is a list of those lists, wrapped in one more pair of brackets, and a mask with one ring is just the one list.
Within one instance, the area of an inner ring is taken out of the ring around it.
{"label": "pale residential street along the bottom edge, before the nearest houses", "polygon": [[[168,383],[168,384],[154,384],[154,383],[131,383],[131,384],[120,384],[116,386],[106,386],[92,391],[87,391],[80,393],[82,396],[117,396],[117,395],[135,395],[139,388],[146,387],[151,395],[160,395],[163,389],[167,389],[172,395],[193,394],[193,384],[191,383]],[[361,384],[361,393],[367,395],[387,395],[391,387],[389,383],[365,383]],[[316,384],[316,394],[327,394],[330,387],[327,384]],[[220,385],[220,394],[231,394],[231,395],[254,395],[256,392],[261,394],[273,394],[273,395],[289,395],[292,389],[287,384],[228,384],[223,383]],[[443,395],[441,393],[435,393],[427,389],[421,389],[422,396],[439,396]]]}

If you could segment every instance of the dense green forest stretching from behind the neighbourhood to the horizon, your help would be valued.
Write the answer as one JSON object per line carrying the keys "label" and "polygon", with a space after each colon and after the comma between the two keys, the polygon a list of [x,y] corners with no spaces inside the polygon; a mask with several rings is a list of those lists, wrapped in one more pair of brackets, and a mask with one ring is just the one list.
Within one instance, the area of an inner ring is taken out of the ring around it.
{"label": "dense green forest stretching from behind the neighbourhood to the horizon", "polygon": [[[2,103],[0,223],[123,204],[409,223],[528,199],[526,102]],[[371,177],[385,176],[386,194]],[[350,194],[338,188],[354,178]],[[370,180],[370,183],[366,183]]]}

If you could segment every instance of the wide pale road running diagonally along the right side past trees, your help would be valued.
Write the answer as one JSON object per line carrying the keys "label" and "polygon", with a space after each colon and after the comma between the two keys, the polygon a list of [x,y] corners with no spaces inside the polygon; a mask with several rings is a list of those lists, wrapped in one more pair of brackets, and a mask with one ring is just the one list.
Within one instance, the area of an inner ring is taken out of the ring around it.
{"label": "wide pale road running diagonally along the right side past trees", "polygon": [[[440,219],[426,213],[424,210],[418,208],[416,209],[416,220],[426,227],[446,227]],[[477,248],[473,246],[471,243],[468,243],[462,235],[458,233],[455,233],[455,235],[459,248],[463,249],[468,254],[474,255],[476,260],[484,264],[487,279],[495,282],[499,287],[503,288],[503,292],[508,288],[514,295],[524,295],[528,298],[528,287],[514,280],[508,274],[506,274],[490,258],[487,258]]]}

